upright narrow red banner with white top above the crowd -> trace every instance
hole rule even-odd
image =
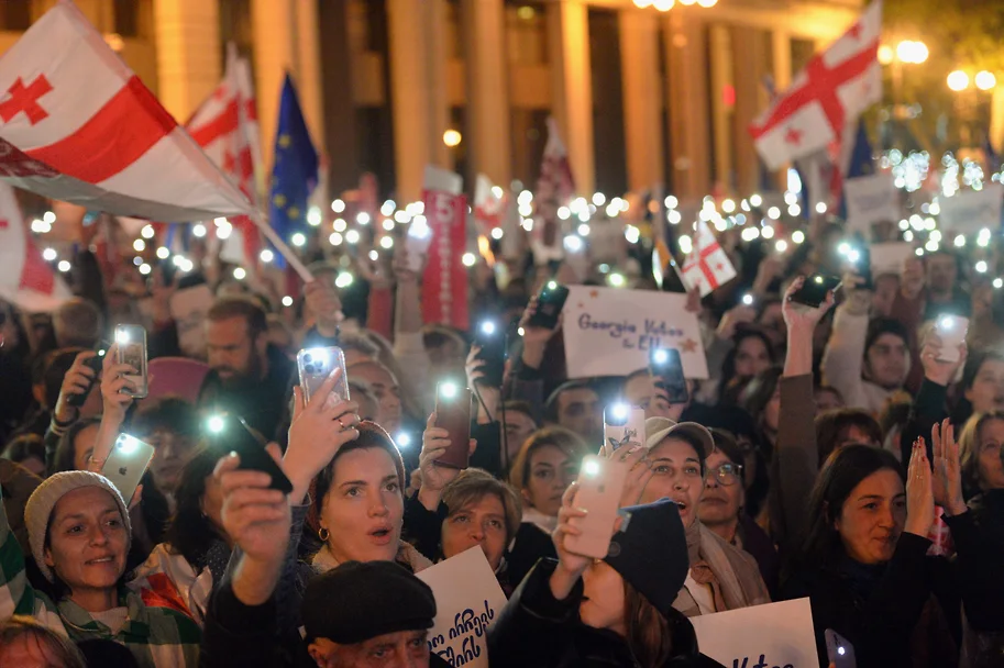
[[[432,243],[422,278],[422,318],[466,330],[467,269],[462,258],[467,242],[467,198],[462,189],[459,175],[426,167],[422,202]]]

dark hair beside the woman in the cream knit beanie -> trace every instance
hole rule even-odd
[[[212,475],[219,459],[220,453],[206,445],[195,452],[181,471],[176,493],[177,508],[164,532],[164,542],[170,546],[170,552],[180,554],[197,567],[196,570],[203,566],[206,553],[213,542],[223,538],[209,517],[202,514],[206,478]]]

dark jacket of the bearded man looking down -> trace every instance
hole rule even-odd
[[[296,365],[268,345],[268,372],[261,381],[247,381],[238,387],[223,387],[216,371],[206,375],[199,390],[199,407],[209,411],[227,411],[244,421],[272,441],[280,432],[289,413],[288,399],[296,380]]]

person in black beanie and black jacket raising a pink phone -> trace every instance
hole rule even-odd
[[[687,575],[686,535],[675,503],[622,509],[605,559],[570,553],[577,487],[562,499],[554,547],[541,559],[488,630],[493,666],[571,668],[713,667],[699,654],[694,627],[673,608]]]

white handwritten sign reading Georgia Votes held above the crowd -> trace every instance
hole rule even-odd
[[[708,377],[686,294],[571,286],[562,331],[569,378],[626,376],[648,366],[654,348],[680,350],[687,378]]]

